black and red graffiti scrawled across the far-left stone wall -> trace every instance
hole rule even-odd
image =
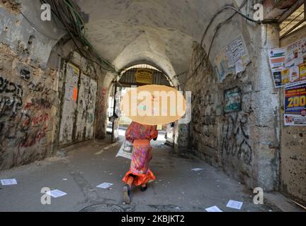
[[[0,75],[0,169],[41,160],[51,148],[53,78],[40,69],[23,70]]]

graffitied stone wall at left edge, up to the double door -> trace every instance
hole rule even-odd
[[[0,4],[0,169],[53,154],[57,71],[47,68],[55,40],[31,27],[21,5]]]

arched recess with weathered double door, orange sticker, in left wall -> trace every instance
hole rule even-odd
[[[98,66],[71,52],[62,66],[60,145],[94,138],[96,120]]]

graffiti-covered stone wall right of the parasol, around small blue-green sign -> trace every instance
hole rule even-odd
[[[196,47],[193,56],[196,64],[191,71],[203,54],[203,49]],[[186,87],[193,92],[190,135],[193,152],[212,165],[223,167],[233,177],[251,184],[254,160],[251,126],[255,124],[251,105],[252,83],[244,73],[237,78],[229,76],[224,83],[218,84],[210,64],[203,64],[198,71],[191,82],[198,85]],[[241,91],[242,110],[225,114],[225,90],[234,88]]]

